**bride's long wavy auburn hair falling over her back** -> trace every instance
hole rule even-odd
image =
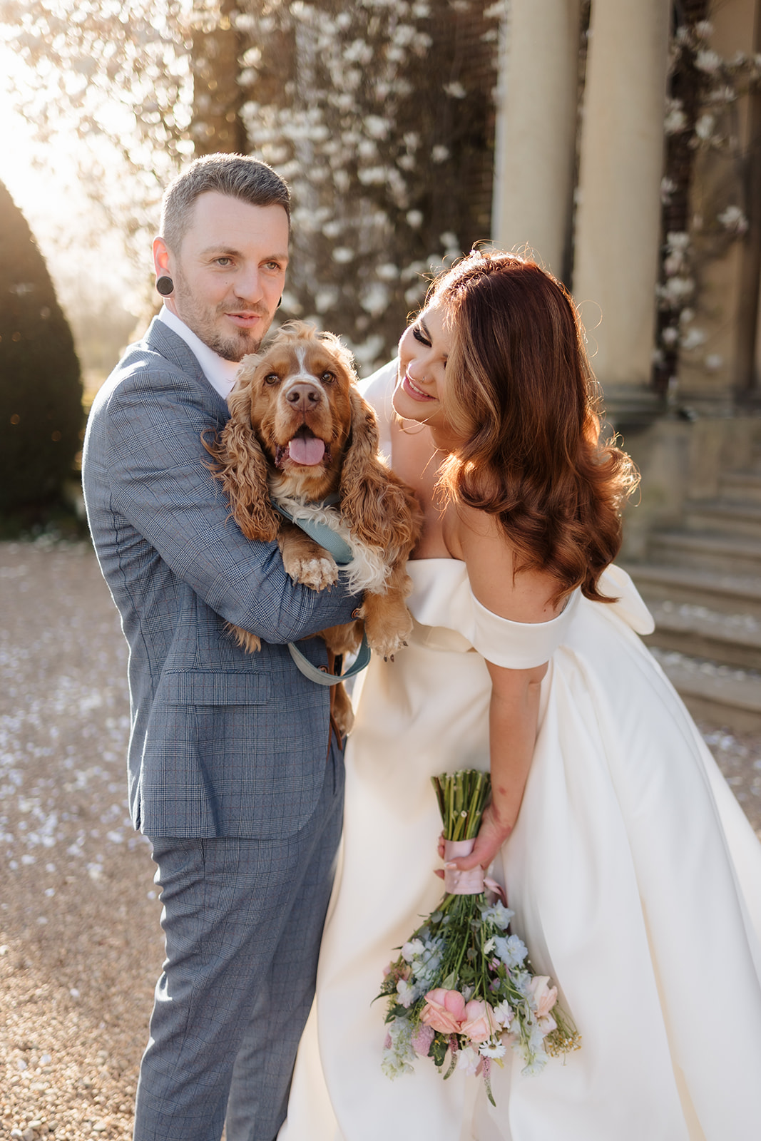
[[[534,261],[473,251],[434,282],[452,330],[443,408],[459,439],[440,486],[499,517],[513,573],[543,569],[556,601],[598,580],[621,547],[639,476],[600,443],[599,388],[568,291]]]

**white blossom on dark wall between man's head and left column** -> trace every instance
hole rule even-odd
[[[272,0],[235,18],[249,148],[294,194],[283,311],[342,333],[365,369],[430,273],[488,240],[502,7]]]

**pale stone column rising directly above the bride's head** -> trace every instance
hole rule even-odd
[[[580,0],[512,0],[497,89],[494,241],[528,243],[558,275],[572,217],[578,22]]]

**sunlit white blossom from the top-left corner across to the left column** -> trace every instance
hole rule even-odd
[[[503,7],[0,0],[0,30],[29,65],[19,110],[39,137],[66,121],[111,145],[118,177],[90,184],[136,259],[192,155],[248,152],[281,171],[296,204],[281,314],[342,333],[369,367],[392,354],[426,275],[489,236]]]

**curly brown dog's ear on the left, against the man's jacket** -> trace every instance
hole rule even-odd
[[[246,539],[268,543],[277,537],[281,517],[269,499],[267,460],[251,427],[251,379],[238,380],[227,399],[230,418],[217,440],[205,446],[238,527]]]

